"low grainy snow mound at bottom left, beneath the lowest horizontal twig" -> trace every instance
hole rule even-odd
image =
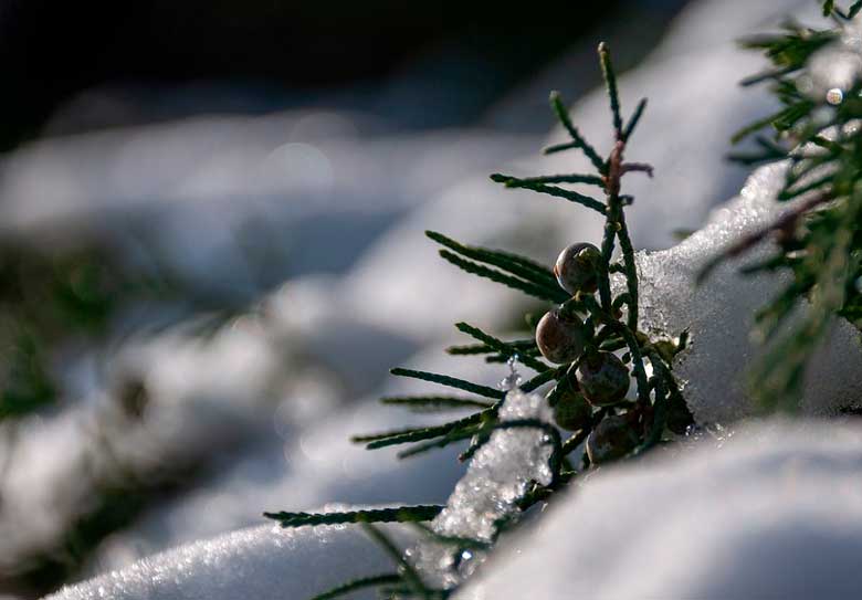
[[[387,527],[387,533],[400,528]],[[400,535],[403,541],[403,533]],[[282,600],[311,598],[351,579],[395,572],[391,558],[349,525],[262,526],[144,559],[54,600]]]

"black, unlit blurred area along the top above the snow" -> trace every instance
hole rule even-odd
[[[0,147],[40,133],[201,112],[254,114],[324,102],[387,113],[392,107],[374,91],[406,74],[431,93],[409,97],[413,110],[401,110],[400,125],[463,125],[585,33],[621,23],[630,36],[642,35],[684,3],[8,0],[0,4]],[[231,82],[230,92],[213,82]],[[196,99],[166,101],[190,84]],[[122,107],[91,107],[44,130],[59,105],[105,85],[122,91]],[[445,97],[449,103],[440,102]]]

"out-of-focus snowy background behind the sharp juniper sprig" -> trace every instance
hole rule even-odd
[[[421,389],[391,366],[502,378],[438,350],[528,306],[422,230],[546,263],[596,233],[486,175],[578,170],[538,158],[550,88],[608,146],[606,40],[655,107],[635,242],[670,245],[745,177],[722,156],[766,101],[733,40],[797,3],[0,3],[0,597],[263,510],[443,501],[452,453],[347,436],[417,422],[374,403]]]

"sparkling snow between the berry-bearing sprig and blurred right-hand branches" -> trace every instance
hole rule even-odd
[[[775,199],[784,183],[785,168],[778,164],[755,171],[739,197],[717,209],[703,229],[679,245],[637,254],[640,327],[656,334],[691,333],[691,347],[677,357],[674,368],[686,382],[685,398],[700,423],[727,423],[755,412],[744,393],[746,369],[764,351],[750,339],[754,314],[786,280],[775,274],[739,274],[740,266],[765,255],[768,242],[756,252],[718,266],[702,285],[697,286],[695,278],[727,245],[792,207]],[[617,284],[622,282],[618,280]],[[859,407],[860,364],[859,331],[837,319],[809,368],[803,411],[834,414],[842,408]]]

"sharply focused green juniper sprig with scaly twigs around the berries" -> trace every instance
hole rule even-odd
[[[547,486],[534,485],[519,499],[518,506],[524,510],[537,502],[548,501],[558,490],[577,477],[579,471],[572,465],[568,455],[579,449],[582,452],[579,464],[582,465],[582,469],[589,469],[592,464],[641,454],[665,441],[670,431],[679,432],[680,427],[687,427],[692,422],[691,413],[682,399],[680,386],[671,372],[671,361],[685,346],[686,336],[682,335],[679,340],[670,338],[652,340],[638,328],[638,274],[634,250],[624,217],[626,207],[630,206],[633,199],[622,193],[621,189],[622,179],[628,173],[645,172],[652,176],[652,167],[649,165],[628,162],[623,158],[627,143],[644,114],[646,101],[640,101],[628,120],[623,119],[610,53],[605,44],[599,46],[598,52],[608,91],[612,122],[613,145],[608,157],[602,158],[598,150],[581,136],[556,92],[550,95],[550,106],[568,133],[570,141],[546,149],[546,152],[567,149],[580,150],[588,158],[596,172],[528,178],[516,178],[502,173],[491,176],[493,181],[503,183],[507,188],[530,189],[539,193],[564,198],[577,206],[596,211],[605,218],[601,250],[591,244],[582,243],[570,246],[575,249],[576,253],[582,249],[588,251],[584,256],[576,256],[575,261],[577,269],[581,270],[576,277],[579,282],[577,285],[582,287],[572,291],[569,281],[559,271],[561,269],[560,261],[569,249],[564,251],[555,269],[550,270],[525,256],[467,245],[442,233],[427,232],[431,240],[443,246],[440,250],[440,255],[466,273],[518,290],[551,305],[548,314],[538,322],[532,316],[527,316],[527,323],[534,329],[534,337],[530,339],[505,341],[474,325],[458,323],[456,328],[472,337],[476,344],[454,346],[448,348],[446,351],[455,356],[485,357],[488,361],[509,361],[511,364],[518,361],[537,371],[537,375],[521,383],[518,388],[522,392],[530,393],[550,385],[551,389],[546,399],[555,411],[555,423],[539,419],[501,420],[498,411],[505,401],[505,391],[441,373],[397,368],[392,369],[392,375],[439,383],[470,392],[481,399],[416,396],[385,398],[382,399],[383,403],[401,404],[419,410],[448,408],[476,408],[479,410],[442,424],[353,438],[355,442],[365,443],[369,450],[403,445],[406,449],[399,453],[399,457],[414,456],[430,450],[470,440],[466,450],[460,456],[461,460],[465,461],[470,460],[487,443],[495,432],[514,429],[542,431],[543,439],[551,446],[548,464],[551,481]],[[592,186],[601,190],[605,198],[598,200],[560,187],[567,185]],[[621,254],[619,262],[614,261],[617,248]],[[564,261],[563,269],[565,267]],[[611,286],[611,275],[620,276],[623,280],[624,290],[614,294]],[[593,297],[596,292],[598,292],[598,298]],[[561,348],[566,352],[564,355],[547,348],[545,344],[547,340],[542,337],[539,331],[543,323],[548,323],[549,318],[551,323],[559,323],[563,327],[576,327],[577,329],[575,334],[568,334],[571,336],[570,338],[567,338],[566,335],[558,338],[551,336],[550,339],[568,339],[567,344],[570,344],[571,347]],[[545,341],[540,343],[540,339]],[[580,347],[581,345],[582,347]],[[575,354],[571,354],[572,349]],[[620,359],[612,352],[624,354]],[[555,365],[548,365],[539,358],[539,355]],[[564,358],[560,359],[560,356]],[[617,369],[618,380],[621,370],[624,383],[621,393],[612,398],[602,398],[580,388],[581,383],[588,385],[588,380],[584,379],[585,376],[581,371],[603,368],[601,365],[606,362]],[[648,371],[648,366],[651,367],[651,372]],[[637,385],[637,400],[634,401],[624,398],[631,379],[634,379]],[[593,393],[591,402],[595,402],[596,406],[586,403],[584,394],[587,393]],[[570,408],[572,402],[576,404],[584,402],[584,404],[578,404],[580,407],[579,413],[567,417],[564,409]],[[564,427],[574,431],[574,434],[565,441],[560,432],[560,428]],[[626,442],[628,445],[611,448],[610,451],[601,450],[603,454],[591,454],[591,452],[599,451],[596,450],[597,444],[590,444],[590,440],[608,428],[619,430],[618,433],[628,440]],[[586,451],[582,450],[585,443]],[[393,508],[358,514],[278,513],[270,516],[283,524],[286,523],[287,526],[307,523],[361,523],[367,520],[412,522],[425,520],[427,517],[435,515],[439,509],[440,507],[403,507],[403,512]],[[495,531],[500,533],[515,520],[516,516],[504,517],[495,524]],[[374,534],[371,535],[374,536]],[[392,554],[399,564],[402,580],[398,583],[388,583],[397,587],[399,597],[439,598],[452,591],[424,588],[418,575],[410,570],[409,564],[403,560],[403,557],[393,554],[395,549],[391,543],[386,539],[378,539],[378,541]],[[459,549],[473,547],[470,540],[458,538],[448,539],[446,544]]]

